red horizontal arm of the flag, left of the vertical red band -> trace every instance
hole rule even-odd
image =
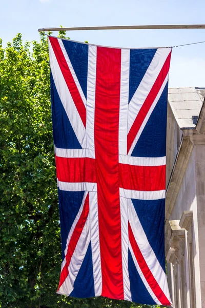
[[[61,182],[96,183],[95,160],[92,158],[55,157],[56,174]]]

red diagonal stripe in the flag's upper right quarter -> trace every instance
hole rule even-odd
[[[148,97],[146,98],[144,104],[141,106],[137,117],[132,125],[132,127],[130,128],[130,131],[128,133],[128,150],[127,152],[129,152],[131,145],[136,137],[137,132],[139,131],[139,128],[141,127],[142,123],[145,120],[145,117],[150,109],[150,107],[152,106],[163,82],[165,81],[165,78],[169,72],[169,68],[170,68],[170,60],[171,60],[171,52],[169,53],[165,64],[163,65],[163,67],[161,68],[160,73],[157,76],[157,79],[152,87],[152,89],[150,90],[150,93],[148,94]]]

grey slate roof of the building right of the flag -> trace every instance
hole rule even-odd
[[[168,101],[179,128],[194,128],[192,116],[198,116],[205,96],[205,88],[170,88]]]

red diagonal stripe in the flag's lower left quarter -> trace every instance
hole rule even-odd
[[[66,264],[65,264],[64,268],[62,269],[62,271],[60,273],[60,281],[59,281],[59,285],[58,285],[58,290],[61,287],[61,285],[64,283],[64,281],[66,280],[66,278],[69,274],[68,266],[70,264],[72,255],[75,251],[75,247],[77,245],[77,242],[78,242],[80,235],[83,231],[83,228],[85,226],[86,220],[88,218],[88,214],[89,214],[89,194],[86,197],[83,211],[82,211],[80,218],[79,218],[79,220],[78,220],[78,222],[75,226],[75,229],[73,231],[73,234],[71,236],[71,239],[70,239],[70,242],[69,242],[69,245],[68,245],[68,251],[67,251],[67,254],[65,256]]]

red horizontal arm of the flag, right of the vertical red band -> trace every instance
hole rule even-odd
[[[119,187],[132,190],[165,189],[166,165],[133,166],[119,164]]]

